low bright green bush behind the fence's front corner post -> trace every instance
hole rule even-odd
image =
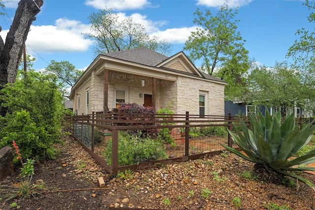
[[[150,136],[140,136],[119,134],[118,165],[133,165],[167,158],[165,149],[160,142],[155,141]],[[107,164],[111,164],[112,139],[107,141],[104,156],[107,158]]]

